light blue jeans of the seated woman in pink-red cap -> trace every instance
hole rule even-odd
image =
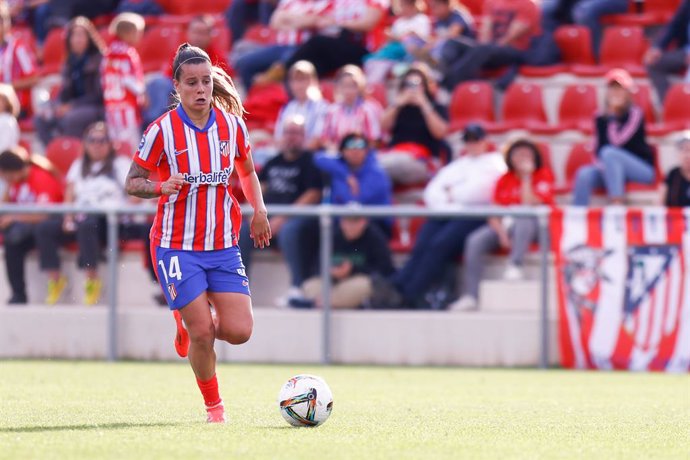
[[[639,157],[619,147],[607,145],[599,152],[596,164],[583,166],[575,176],[574,201],[577,206],[587,206],[592,192],[606,188],[609,198],[622,198],[626,182],[651,184],[654,167]]]

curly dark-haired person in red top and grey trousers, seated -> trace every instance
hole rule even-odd
[[[553,204],[553,175],[544,167],[539,148],[527,139],[511,142],[506,151],[506,172],[496,184],[493,201],[502,206],[534,206]],[[467,237],[463,292],[449,310],[464,311],[477,308],[479,283],[484,258],[491,251],[510,250],[508,266],[503,277],[509,281],[524,278],[522,262],[538,236],[539,223],[534,217],[492,217],[488,223]]]

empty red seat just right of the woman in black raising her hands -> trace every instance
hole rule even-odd
[[[450,131],[461,131],[470,122],[493,123],[493,87],[484,81],[461,83],[453,90],[449,107]]]

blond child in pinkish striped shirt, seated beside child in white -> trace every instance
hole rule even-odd
[[[381,139],[381,105],[367,98],[367,82],[362,69],[348,64],[335,77],[335,103],[324,122],[322,145],[335,150],[343,137],[360,133],[366,139]]]

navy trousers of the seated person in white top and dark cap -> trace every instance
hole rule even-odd
[[[429,219],[422,225],[412,255],[391,281],[407,302],[420,299],[465,249],[465,239],[484,219]]]

